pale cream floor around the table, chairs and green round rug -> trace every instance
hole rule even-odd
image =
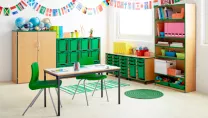
[[[100,98],[100,91],[97,91],[94,97],[88,93],[90,106],[86,105],[84,94],[78,94],[72,100],[71,95],[61,92],[63,108],[60,118],[208,118],[207,95],[196,92],[181,93],[154,84],[144,85],[123,79],[122,82],[130,83],[131,86],[121,88],[121,105],[117,104],[116,88],[108,89],[110,102],[107,102],[106,96]],[[77,81],[68,79],[64,80],[63,84],[77,84]],[[144,88],[159,90],[164,96],[159,99],[140,100],[124,95],[127,90]],[[21,118],[23,111],[37,92],[29,90],[28,84],[0,83],[0,118]],[[54,89],[52,94],[57,104]],[[49,95],[47,105],[47,108],[43,107],[42,93],[24,117],[56,117]]]

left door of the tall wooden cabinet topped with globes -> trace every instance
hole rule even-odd
[[[30,81],[33,62],[37,62],[37,32],[18,32],[18,83]]]

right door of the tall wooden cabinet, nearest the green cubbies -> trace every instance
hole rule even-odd
[[[56,32],[38,32],[39,79],[44,80],[43,70],[56,68]],[[55,77],[47,75],[47,80]]]

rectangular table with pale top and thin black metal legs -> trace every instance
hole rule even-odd
[[[121,103],[120,100],[120,67],[110,66],[110,65],[87,65],[81,67],[79,71],[74,71],[73,67],[65,67],[65,68],[51,68],[44,69],[44,80],[46,81],[46,74],[52,75],[56,77],[58,85],[60,85],[60,79],[76,77],[83,74],[91,74],[91,73],[103,73],[103,72],[118,72],[118,104]],[[101,80],[101,97],[103,97],[103,80]],[[46,89],[44,89],[44,106],[46,107]],[[60,116],[60,86],[58,86],[58,114]]]

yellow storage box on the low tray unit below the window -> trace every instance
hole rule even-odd
[[[115,53],[115,54],[132,54],[132,46],[127,42],[114,42],[113,53]]]

